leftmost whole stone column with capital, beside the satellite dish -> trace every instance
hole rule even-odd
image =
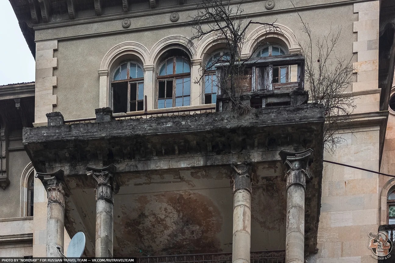
[[[58,247],[63,253],[64,244],[64,205],[66,201],[66,185],[64,171],[54,173],[36,173],[36,178],[47,190],[47,257],[61,257]]]

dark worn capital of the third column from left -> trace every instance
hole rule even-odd
[[[235,162],[232,164],[232,168],[234,172],[230,183],[233,193],[240,189],[251,192],[251,165],[246,162]]]

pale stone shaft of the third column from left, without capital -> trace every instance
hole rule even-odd
[[[233,263],[250,263],[251,193],[245,189],[233,194]]]

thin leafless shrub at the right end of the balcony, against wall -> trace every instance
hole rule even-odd
[[[350,127],[350,114],[356,107],[353,94],[346,92],[353,82],[352,57],[336,54],[341,28],[314,38],[308,24],[299,17],[308,37],[305,43],[299,43],[305,56],[305,87],[313,103],[325,106],[325,150],[334,153],[337,145],[344,141],[338,131]]]

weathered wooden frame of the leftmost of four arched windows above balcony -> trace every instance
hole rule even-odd
[[[115,72],[117,71],[117,69],[119,68],[119,67],[121,67],[122,65],[124,65],[125,63],[127,63],[127,66],[126,66],[126,76],[127,76],[127,78],[126,79],[123,79],[123,80],[113,80],[114,79],[114,75],[115,75]],[[143,71],[143,77],[141,77],[141,78],[130,78],[130,63],[133,63],[133,64],[136,64],[137,66],[139,66],[140,68],[141,68],[141,70]],[[125,83],[125,82],[127,82],[127,91],[128,91],[128,98],[127,98],[127,101],[128,101],[128,103],[127,103],[127,105],[126,105],[126,112],[131,112],[130,111],[130,103],[132,103],[132,101],[131,101],[131,96],[130,96],[130,90],[131,90],[131,84],[136,84],[137,85],[137,88],[136,88],[136,101],[134,101],[135,103],[136,103],[136,110],[135,111],[138,111],[137,110],[137,104],[139,103],[139,102],[142,102],[143,103],[143,110],[144,110],[144,67],[143,67],[143,65],[141,65],[140,63],[138,63],[138,62],[136,62],[136,61],[134,61],[134,60],[130,60],[130,61],[126,61],[126,62],[122,62],[122,63],[120,63],[119,64],[119,66],[118,67],[116,67],[115,69],[114,69],[114,71],[113,71],[113,74],[111,75],[111,108],[114,108],[114,96],[113,96],[113,94],[114,94],[114,90],[113,90],[113,84],[118,84],[118,83]],[[139,84],[143,84],[143,99],[138,99],[139,98]],[[133,111],[133,112],[135,112],[135,111]],[[126,113],[125,112],[125,113]]]

